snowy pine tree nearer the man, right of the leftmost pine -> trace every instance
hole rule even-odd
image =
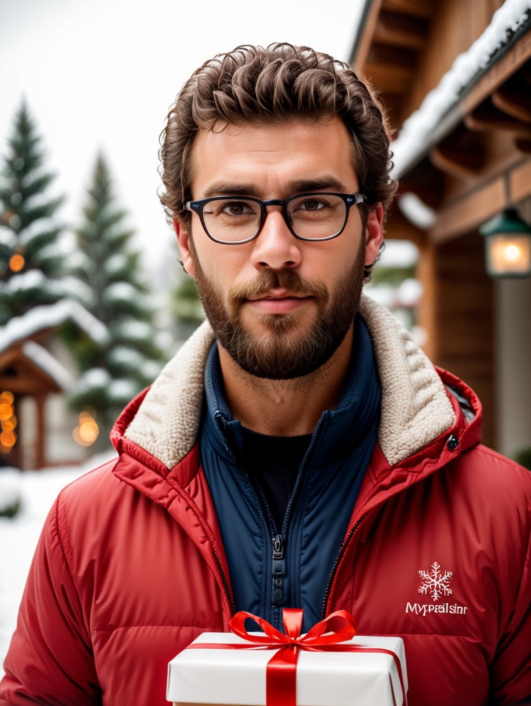
[[[109,330],[106,345],[87,337],[73,341],[83,373],[70,397],[75,409],[92,407],[106,442],[117,414],[161,369],[149,288],[126,227],[126,212],[116,205],[106,160],[98,155],[87,190],[83,220],[76,230],[75,274],[90,289],[83,304]]]

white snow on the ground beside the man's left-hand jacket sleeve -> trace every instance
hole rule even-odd
[[[16,496],[22,501],[16,517],[0,517],[0,677],[33,552],[52,503],[61,488],[113,455],[93,457],[75,467],[25,472],[0,469],[2,504]]]

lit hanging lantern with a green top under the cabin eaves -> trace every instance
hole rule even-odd
[[[491,277],[529,277],[531,227],[508,208],[480,227],[485,239],[485,263]]]

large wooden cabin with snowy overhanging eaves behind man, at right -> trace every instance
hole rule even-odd
[[[527,12],[526,12],[527,6]],[[531,446],[531,277],[487,273],[480,227],[531,223],[531,12],[514,0],[369,0],[350,61],[379,92],[414,241],[425,350],[475,389],[484,443]]]

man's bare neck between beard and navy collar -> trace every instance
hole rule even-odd
[[[271,436],[312,433],[324,409],[334,409],[350,364],[353,327],[336,352],[309,375],[290,380],[257,378],[244,371],[219,345],[225,399],[235,419]]]

